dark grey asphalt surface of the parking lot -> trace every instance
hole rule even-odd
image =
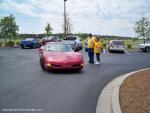
[[[88,64],[87,55],[83,53],[83,56],[82,72],[44,72],[39,65],[38,50],[0,48],[0,113],[6,112],[5,109],[95,113],[99,94],[110,80],[150,67],[150,53],[106,52],[99,66]]]

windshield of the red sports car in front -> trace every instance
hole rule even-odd
[[[56,51],[56,52],[71,52],[72,47],[71,45],[67,44],[47,44],[45,46],[46,51]]]

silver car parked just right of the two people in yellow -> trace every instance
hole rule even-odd
[[[108,45],[108,50],[109,50],[109,52],[113,52],[113,51],[124,52],[125,44],[124,44],[123,40],[111,40]]]

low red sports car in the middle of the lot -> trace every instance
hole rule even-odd
[[[62,42],[49,42],[39,49],[39,53],[43,70],[81,70],[84,66],[82,54]]]

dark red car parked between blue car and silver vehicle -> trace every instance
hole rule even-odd
[[[61,40],[60,40],[60,37],[58,37],[58,36],[44,37],[43,39],[41,39],[40,45],[44,46],[48,42],[59,42],[59,41],[61,41]]]

